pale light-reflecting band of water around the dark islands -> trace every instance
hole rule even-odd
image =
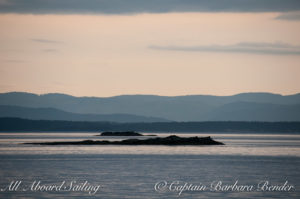
[[[177,134],[212,136],[224,146],[39,146],[26,142],[121,140],[129,137],[100,137],[97,133],[0,133],[0,154],[184,154],[300,156],[300,135],[271,134]],[[146,133],[147,135],[147,133]],[[158,136],[171,134],[160,133]],[[132,137],[131,137],[132,138]],[[145,137],[133,137],[147,139]]]

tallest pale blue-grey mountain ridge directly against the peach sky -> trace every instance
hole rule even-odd
[[[130,114],[172,121],[300,121],[300,94],[74,97],[11,92],[0,94],[0,105],[50,107],[78,114]]]

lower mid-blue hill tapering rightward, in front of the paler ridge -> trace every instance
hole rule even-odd
[[[167,122],[169,120],[143,117],[129,114],[78,114],[55,108],[26,108],[20,106],[0,105],[0,117],[18,117],[33,120],[67,120],[67,121],[110,121],[110,122]]]

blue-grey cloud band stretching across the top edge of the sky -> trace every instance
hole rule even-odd
[[[167,12],[288,12],[299,0],[1,0],[2,13],[135,14]]]

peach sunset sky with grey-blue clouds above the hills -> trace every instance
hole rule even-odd
[[[0,0],[0,92],[300,93],[299,0]]]

